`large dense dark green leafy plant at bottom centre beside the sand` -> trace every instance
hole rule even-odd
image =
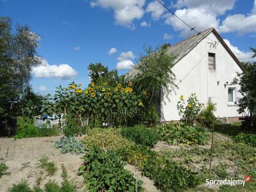
[[[79,175],[83,175],[88,191],[141,191],[141,181],[136,186],[136,179],[124,170],[124,164],[116,152],[93,148],[84,155]]]

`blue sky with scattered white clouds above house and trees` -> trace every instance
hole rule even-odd
[[[249,47],[256,47],[256,0],[163,3],[197,31],[213,26],[237,58],[251,60]],[[143,44],[175,44],[193,35],[152,0],[0,0],[0,16],[11,17],[13,26],[28,24],[40,35],[42,66],[33,70],[31,84],[43,95],[73,80],[85,87],[90,63],[101,62],[110,70],[118,67],[118,73],[124,74],[143,53]]]

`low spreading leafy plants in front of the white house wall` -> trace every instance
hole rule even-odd
[[[183,123],[159,125],[156,127],[161,140],[172,145],[185,143],[187,145],[204,145],[208,141],[204,128],[189,126]]]

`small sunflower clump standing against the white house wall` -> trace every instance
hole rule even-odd
[[[198,120],[200,111],[202,109],[202,104],[198,102],[195,93],[192,93],[187,104],[185,103],[183,95],[180,95],[180,100],[178,102],[179,115],[182,116],[182,121],[186,124],[193,125],[195,120]]]

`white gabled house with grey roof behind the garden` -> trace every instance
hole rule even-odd
[[[166,96],[161,99],[161,122],[180,120],[179,97],[186,100],[191,93],[196,93],[199,102],[215,103],[217,117],[236,120],[241,116],[236,103],[239,86],[231,82],[243,66],[214,28],[170,46],[168,52],[176,56],[172,71],[179,88],[169,95],[170,101]],[[127,75],[134,74],[138,74],[136,68]]]

